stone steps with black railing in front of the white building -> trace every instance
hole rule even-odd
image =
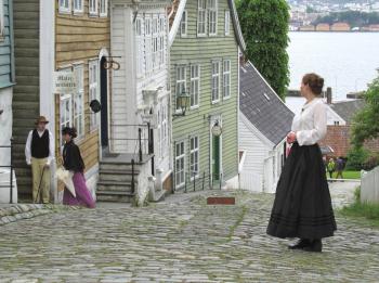
[[[147,185],[152,156],[143,156],[142,162],[134,163],[134,192],[132,189],[132,157],[120,154],[105,157],[100,162],[97,202],[130,203],[139,185]],[[164,195],[154,192],[153,202],[160,201]]]

